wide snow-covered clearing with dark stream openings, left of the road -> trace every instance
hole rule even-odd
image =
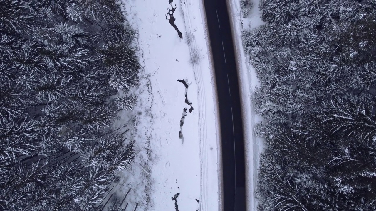
[[[220,131],[202,3],[122,1],[143,68],[135,112],[115,127],[130,119],[126,136],[138,153],[110,194],[121,201],[130,189],[127,210],[220,210]]]

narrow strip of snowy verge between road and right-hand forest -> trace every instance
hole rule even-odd
[[[259,168],[259,156],[262,152],[263,142],[253,133],[253,127],[261,122],[262,118],[255,115],[253,110],[252,94],[256,86],[259,87],[259,81],[255,69],[249,61],[249,55],[246,55],[241,42],[241,32],[246,29],[254,29],[261,26],[261,12],[258,5],[259,0],[254,0],[254,5],[246,18],[241,15],[240,0],[227,0],[230,10],[230,19],[233,30],[233,39],[235,45],[235,55],[239,71],[239,83],[241,90],[243,124],[244,124],[244,148],[246,151],[246,183],[247,183],[247,210],[256,211],[257,201],[254,197],[256,188],[257,170]]]

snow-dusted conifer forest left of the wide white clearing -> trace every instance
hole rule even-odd
[[[0,210],[94,210],[132,163],[124,22],[115,0],[0,0]]]

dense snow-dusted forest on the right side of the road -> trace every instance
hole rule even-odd
[[[259,8],[266,24],[242,35],[265,120],[258,210],[376,210],[376,1]]]

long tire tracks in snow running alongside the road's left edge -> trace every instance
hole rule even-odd
[[[191,17],[189,12],[189,7],[192,6],[191,3],[186,3],[185,0],[180,2],[183,12],[183,21],[185,25],[185,30],[187,33],[194,35],[195,30],[193,30],[191,24]],[[193,36],[192,42],[189,44],[190,54],[194,49],[198,49],[196,39]],[[208,140],[207,140],[207,131],[206,131],[206,107],[205,107],[205,90],[203,89],[203,80],[202,80],[202,69],[198,64],[193,64],[193,73],[194,78],[197,84],[197,97],[198,97],[198,113],[199,113],[199,140],[200,140],[200,191],[201,196],[199,200],[199,210],[206,211],[208,210]]]

